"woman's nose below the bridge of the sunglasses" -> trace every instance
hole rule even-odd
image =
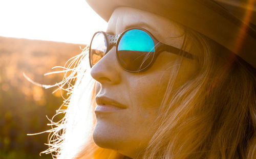
[[[101,84],[115,85],[121,82],[122,68],[116,59],[115,48],[112,47],[91,69],[91,76]]]

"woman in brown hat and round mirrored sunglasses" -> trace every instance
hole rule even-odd
[[[95,33],[67,70],[61,87],[69,84],[68,108],[59,111],[65,117],[55,123],[46,152],[256,158],[250,19],[238,20],[209,0],[88,3],[108,28]]]

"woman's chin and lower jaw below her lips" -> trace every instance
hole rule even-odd
[[[145,135],[144,135],[145,136]],[[97,120],[93,131],[94,143],[106,149],[115,150],[125,156],[133,156],[143,150],[148,144],[149,138],[144,139],[143,135],[133,134],[131,128],[117,126],[113,123]]]

